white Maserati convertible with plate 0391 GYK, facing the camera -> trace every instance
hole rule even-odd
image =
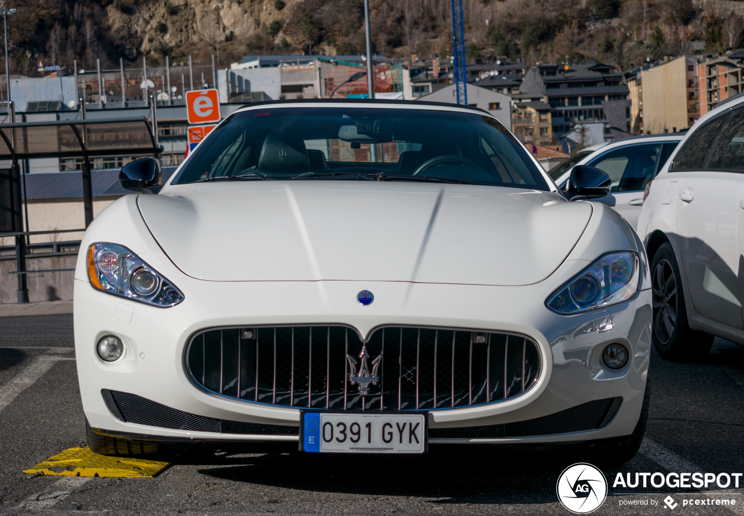
[[[77,371],[98,453],[289,441],[635,455],[649,399],[641,241],[577,166],[568,200],[489,113],[277,101],[159,165],[80,246]],[[432,450],[434,447],[432,447]]]

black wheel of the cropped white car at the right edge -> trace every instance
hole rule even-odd
[[[652,340],[664,360],[698,360],[711,351],[713,335],[695,331],[687,323],[687,308],[679,265],[669,242],[656,251],[651,263],[653,299]]]

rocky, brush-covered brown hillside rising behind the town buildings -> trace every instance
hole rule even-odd
[[[90,69],[157,65],[190,54],[219,66],[245,54],[360,54],[362,0],[23,0],[9,7],[11,70],[72,61]],[[452,53],[449,0],[370,0],[375,51]],[[592,57],[625,69],[647,57],[742,45],[744,2],[731,0],[464,0],[467,56],[527,63]],[[691,44],[691,42],[695,42]]]

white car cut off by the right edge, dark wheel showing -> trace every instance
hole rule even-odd
[[[647,188],[638,223],[652,260],[654,344],[670,360],[744,345],[744,97],[696,122]]]

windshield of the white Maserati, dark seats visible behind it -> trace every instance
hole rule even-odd
[[[231,115],[174,184],[217,180],[462,182],[547,191],[501,123],[427,109],[269,106]]]

